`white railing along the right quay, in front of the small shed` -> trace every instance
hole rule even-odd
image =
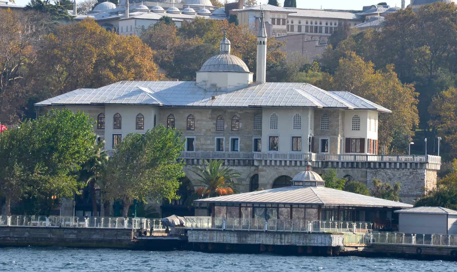
[[[373,232],[361,235],[347,233],[344,236],[346,244],[393,244],[393,245],[416,245],[416,246],[455,246],[457,247],[457,235],[448,234],[415,234],[401,232]]]

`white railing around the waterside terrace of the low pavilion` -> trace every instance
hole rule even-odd
[[[305,231],[367,233],[371,222],[289,220],[263,218],[219,218],[202,217],[197,220],[186,218],[188,229],[216,230],[261,230],[261,231]]]

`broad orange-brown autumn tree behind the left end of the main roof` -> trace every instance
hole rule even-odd
[[[93,19],[59,26],[43,38],[29,88],[55,96],[121,80],[159,80],[154,52],[138,37],[106,31]],[[43,69],[46,67],[46,69]]]

